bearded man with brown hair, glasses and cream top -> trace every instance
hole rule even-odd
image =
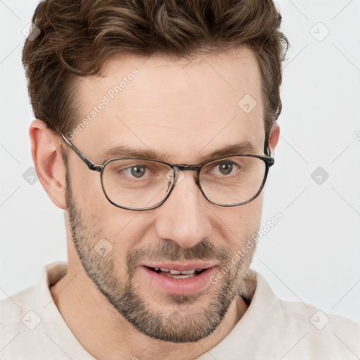
[[[356,323],[249,269],[288,45],[274,4],[46,0],[32,22],[32,157],[68,263],[1,302],[0,359],[359,357]]]

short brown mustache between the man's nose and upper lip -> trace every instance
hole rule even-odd
[[[215,246],[208,239],[203,239],[191,248],[181,248],[173,241],[158,243],[155,247],[136,249],[127,255],[127,268],[131,273],[132,269],[139,266],[143,260],[152,261],[179,261],[179,260],[213,260],[226,262],[231,258],[231,252],[223,246]]]

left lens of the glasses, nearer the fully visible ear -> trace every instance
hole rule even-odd
[[[103,169],[103,189],[117,205],[145,209],[164,200],[169,193],[172,176],[172,169],[161,162],[113,160]]]

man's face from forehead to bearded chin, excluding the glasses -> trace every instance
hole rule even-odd
[[[115,157],[105,155],[115,146],[152,150],[173,164],[200,164],[215,150],[245,142],[253,153],[263,153],[260,72],[250,51],[190,64],[161,56],[145,60],[116,56],[105,63],[105,77],[82,79],[82,115],[97,110],[72,143],[91,161]],[[128,76],[134,68],[137,75]],[[123,77],[122,90],[114,93]],[[238,105],[245,95],[257,102],[250,113]],[[101,102],[105,106],[98,106]],[[204,198],[195,172],[187,171],[160,207],[124,210],[105,198],[99,174],[74,152],[68,154],[70,229],[89,278],[142,333],[173,342],[210,335],[250,265],[255,247],[224,271],[259,229],[262,195],[245,205],[220,207]],[[161,268],[201,272],[179,275]],[[223,276],[210,281],[221,269]]]

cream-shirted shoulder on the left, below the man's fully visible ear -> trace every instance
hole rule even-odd
[[[65,358],[55,342],[71,342],[72,335],[53,302],[49,285],[66,269],[65,262],[48,264],[41,269],[37,285],[0,301],[1,359],[50,359],[56,352],[56,359]]]

